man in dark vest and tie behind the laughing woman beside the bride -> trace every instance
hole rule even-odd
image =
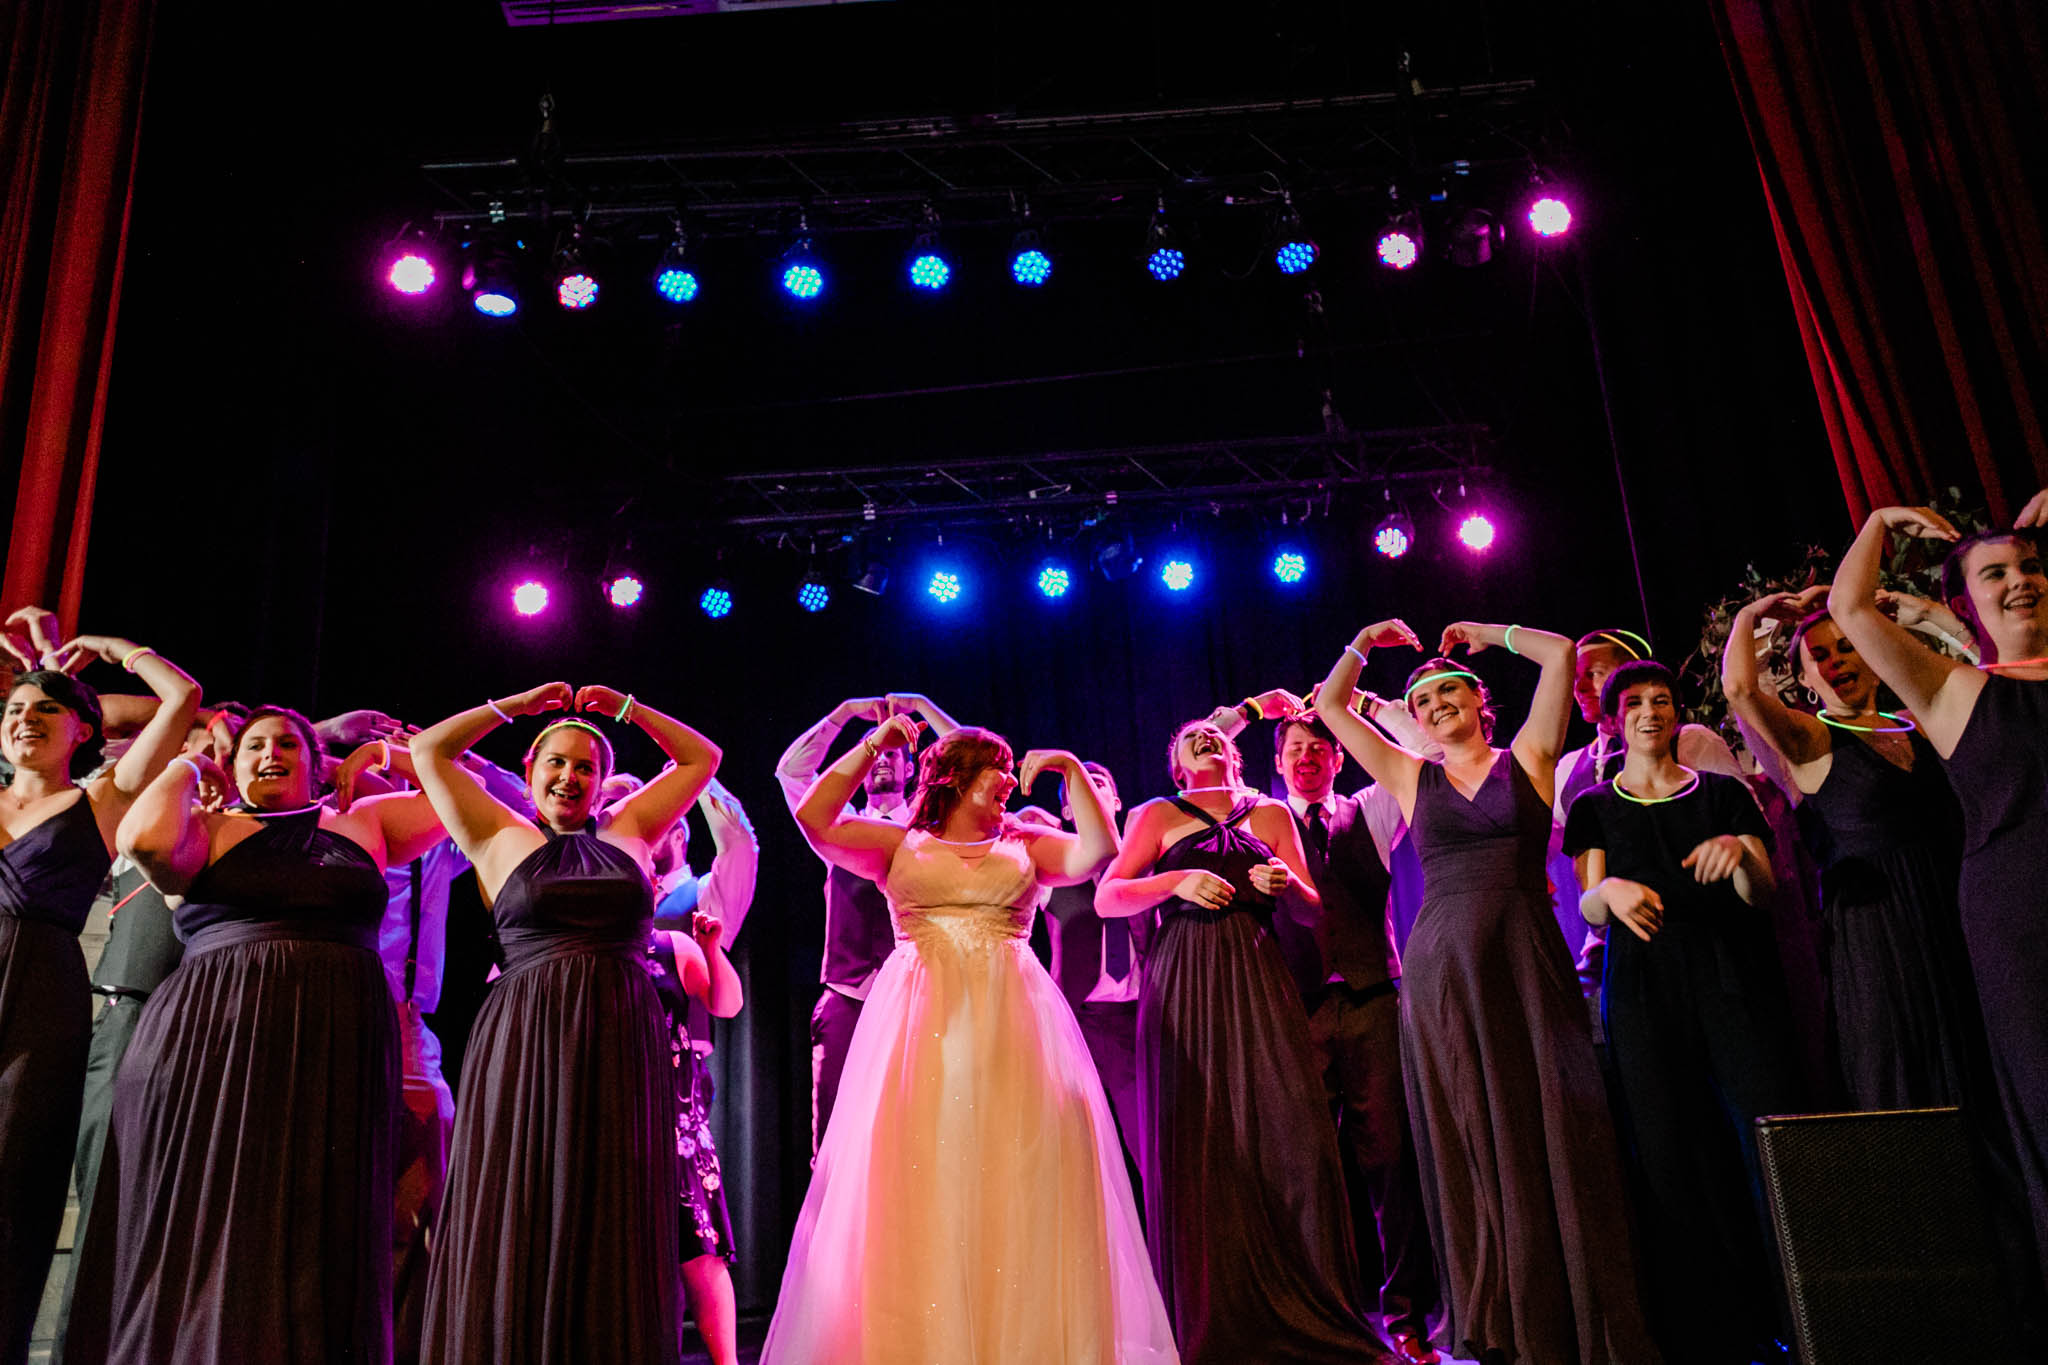
[[[1337,794],[1343,749],[1313,712],[1290,714],[1274,729],[1274,765],[1309,876],[1323,894],[1313,927],[1282,915],[1274,935],[1300,984],[1309,1033],[1323,1050],[1346,1164],[1372,1207],[1366,1224],[1354,1197],[1360,1246],[1380,1248],[1386,1336],[1399,1359],[1436,1361],[1430,1314],[1438,1283],[1401,1091],[1401,964],[1386,931],[1401,808],[1378,788]]]

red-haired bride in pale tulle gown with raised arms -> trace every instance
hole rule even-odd
[[[1014,774],[963,726],[924,755],[909,829],[846,802],[883,722],[797,810],[829,862],[889,894],[897,948],[860,1011],[782,1273],[762,1365],[1176,1363],[1124,1156],[1079,1025],[1030,952],[1040,886],[1116,853],[1071,753]],[[1077,833],[1004,812],[1022,778],[1067,778]]]

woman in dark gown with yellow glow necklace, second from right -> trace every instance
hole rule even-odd
[[[1829,1050],[1845,1097],[1855,1109],[1962,1105],[1989,1078],[1956,909],[1962,808],[1911,712],[1878,710],[1878,675],[1841,626],[1825,610],[1802,616],[1825,593],[1825,583],[1772,593],[1737,612],[1720,686],[1804,796],[1800,837],[1821,864]],[[1769,618],[1796,620],[1792,657],[1819,714],[1759,684],[1755,632]]]

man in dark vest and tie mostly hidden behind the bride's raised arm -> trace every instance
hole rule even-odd
[[[1116,821],[1124,808],[1116,794],[1116,778],[1102,763],[1081,763],[1087,780],[1102,792],[1102,804]],[[1073,806],[1067,786],[1059,788],[1059,814],[1073,827]],[[1096,1062],[1102,1089],[1110,1097],[1116,1132],[1124,1140],[1124,1164],[1130,1169],[1130,1191],[1139,1193],[1137,1164],[1137,1103],[1139,1103],[1139,945],[1130,919],[1096,915],[1096,882],[1055,886],[1047,896],[1044,923],[1053,935],[1053,982],[1073,1007],[1073,1017],[1087,1040],[1087,1056]],[[1139,1195],[1139,1207],[1145,1207]]]

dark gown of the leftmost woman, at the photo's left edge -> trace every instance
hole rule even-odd
[[[29,1359],[63,1224],[92,1038],[78,931],[111,862],[84,792],[0,847],[0,1365]]]

